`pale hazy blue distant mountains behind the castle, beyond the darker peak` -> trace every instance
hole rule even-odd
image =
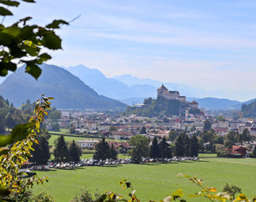
[[[143,103],[144,99],[148,97],[156,98],[157,88],[162,85],[160,81],[139,79],[131,74],[108,78],[98,69],[90,69],[83,65],[70,66],[66,69],[98,93],[118,99],[128,105]],[[218,90],[207,91],[172,82],[165,83],[165,86],[169,90],[178,90],[182,96],[187,96],[188,101],[195,100],[200,107],[208,110],[240,110],[242,104],[253,101],[241,102],[225,98],[212,98],[210,97],[212,94],[221,92]],[[209,97],[203,98],[203,96]]]

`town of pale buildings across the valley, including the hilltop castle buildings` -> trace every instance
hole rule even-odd
[[[185,96],[179,96],[177,91],[167,90],[164,85],[157,89],[157,96],[186,102]],[[246,131],[251,138],[231,142],[230,144],[231,146],[233,145],[233,149],[226,155],[248,157],[249,153],[253,151],[256,144],[255,141],[252,141],[256,136],[255,119],[224,117],[221,114],[216,116],[214,114],[207,114],[205,109],[200,109],[200,114],[189,114],[189,109],[198,109],[198,104],[196,101],[188,102],[188,104],[189,107],[186,108],[184,117],[177,115],[171,117],[165,117],[164,115],[140,117],[136,114],[125,116],[122,113],[94,112],[93,110],[61,110],[59,117],[48,118],[45,126],[53,134],[56,134],[54,131],[66,129],[73,136],[85,137],[83,140],[76,141],[83,149],[94,149],[99,139],[105,137],[115,142],[114,145],[117,150],[123,149],[126,152],[131,149],[129,139],[132,136],[140,134],[150,138],[151,141],[154,137],[159,141],[165,137],[167,143],[172,144],[180,133],[185,132],[190,137],[196,135],[202,140],[200,141],[200,152],[217,153],[218,144],[230,146],[228,145],[230,141],[225,142],[227,134],[241,134]],[[143,104],[135,107],[142,106]],[[211,138],[207,137],[208,133],[211,133]],[[241,150],[242,152],[239,152]]]

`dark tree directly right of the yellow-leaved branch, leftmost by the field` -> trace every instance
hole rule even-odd
[[[31,152],[32,157],[29,159],[37,165],[46,165],[50,159],[49,142],[45,136],[37,137],[38,144],[34,144],[34,151]]]

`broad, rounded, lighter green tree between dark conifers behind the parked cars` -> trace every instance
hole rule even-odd
[[[150,139],[142,135],[132,136],[129,140],[129,145],[133,146],[132,160],[134,160],[135,163],[140,163],[142,157],[146,157],[148,155],[149,142]]]

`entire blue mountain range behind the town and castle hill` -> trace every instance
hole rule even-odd
[[[38,82],[29,74],[24,73],[24,67],[10,74],[2,83],[1,77],[0,94],[10,99],[15,106],[25,102],[27,98],[34,101],[42,93],[48,93],[49,96],[56,95],[53,104],[58,108],[124,110],[126,104],[143,103],[148,97],[156,98],[157,88],[162,85],[160,81],[139,79],[130,74],[108,78],[98,69],[90,69],[83,65],[60,68],[43,64],[42,70],[43,73]],[[253,101],[240,102],[210,96],[202,98],[204,95],[215,94],[217,91],[208,92],[171,82],[164,84],[169,90],[178,90],[181,96],[187,96],[187,101],[195,100],[199,107],[208,110],[240,110],[242,104]]]

